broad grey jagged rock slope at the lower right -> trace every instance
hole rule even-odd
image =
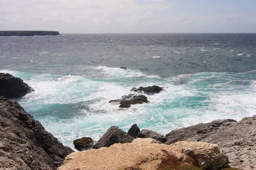
[[[166,135],[165,144],[177,141],[204,141],[218,144],[229,157],[230,166],[244,170],[256,168],[256,115],[240,122],[233,119],[215,120],[173,130]]]

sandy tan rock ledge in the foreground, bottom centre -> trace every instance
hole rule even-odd
[[[227,164],[227,156],[216,144],[166,145],[137,138],[132,143],[71,153],[58,170],[219,170]]]

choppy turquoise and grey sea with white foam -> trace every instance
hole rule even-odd
[[[128,70],[119,67],[127,67]],[[171,130],[256,114],[256,34],[63,34],[0,37],[0,72],[35,92],[26,112],[66,146],[115,125]],[[158,85],[149,103],[112,99]]]

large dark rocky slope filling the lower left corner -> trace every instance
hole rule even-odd
[[[72,152],[17,102],[0,98],[1,170],[56,170]]]

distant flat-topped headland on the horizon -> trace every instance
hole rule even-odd
[[[0,36],[61,35],[58,31],[0,31]]]

